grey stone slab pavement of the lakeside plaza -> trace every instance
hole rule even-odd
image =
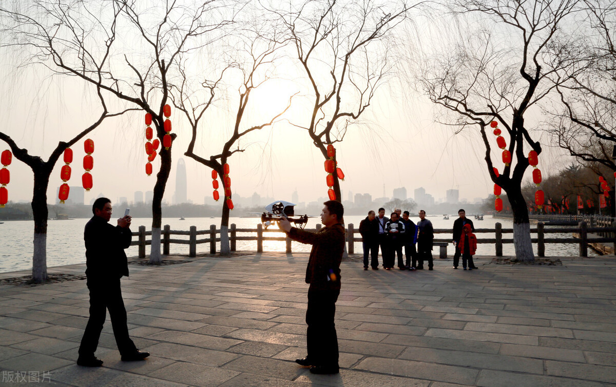
[[[306,254],[130,265],[122,280],[129,329],[152,356],[121,362],[108,321],[100,369],[75,364],[88,313],[84,280],[1,285],[0,385],[616,383],[616,258],[561,259],[563,266],[511,266],[479,257],[470,272],[440,259],[434,271],[416,272],[342,263],[339,375],[312,375],[293,362],[306,352]],[[83,271],[84,264],[50,269]]]

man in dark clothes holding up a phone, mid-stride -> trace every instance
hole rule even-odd
[[[77,364],[86,367],[100,367],[103,364],[94,352],[99,344],[107,309],[122,361],[139,361],[150,356],[148,352],[140,352],[128,336],[126,309],[120,290],[120,278],[123,275],[128,277],[124,249],[131,245],[131,217],[127,215],[118,219],[118,226],[113,227],[108,224],[111,212],[111,200],[97,198],[92,205],[94,216],[84,229],[90,318],[79,346]]]

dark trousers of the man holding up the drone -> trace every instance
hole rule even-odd
[[[340,290],[308,290],[306,343],[312,365],[338,366],[338,336],[334,325]]]

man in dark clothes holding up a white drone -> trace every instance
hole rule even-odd
[[[312,373],[338,373],[338,336],[334,325],[336,301],[340,294],[340,263],[344,251],[344,227],[340,219],[344,214],[342,203],[328,200],[323,203],[322,229],[310,232],[291,227],[282,218],[278,227],[293,240],[312,245],[306,283],[308,309],[306,311],[307,356],[296,359],[299,365],[310,367]]]

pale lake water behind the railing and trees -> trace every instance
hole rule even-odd
[[[359,222],[365,218],[365,216],[345,216],[347,224],[352,223],[357,229]],[[411,218],[414,222],[419,221],[419,218]],[[442,219],[441,216],[429,216],[428,219],[432,222],[435,229],[451,229],[453,221],[456,216],[450,216],[450,219]],[[472,218],[471,218],[472,219]],[[86,261],[85,253],[86,248],[83,242],[83,228],[89,219],[70,219],[70,220],[50,220],[47,227],[47,267],[63,266],[68,264],[84,263]],[[503,229],[511,229],[513,227],[513,221],[509,219],[492,219],[490,216],[485,216],[484,221],[476,221],[473,219],[476,228],[481,229],[493,229],[495,222],[498,221],[503,225]],[[112,224],[115,224],[115,219],[111,219]],[[319,222],[318,218],[310,219],[308,225],[309,229],[314,229],[315,225]],[[163,225],[169,224],[171,230],[185,230],[188,231],[190,226],[197,226],[197,230],[209,230],[209,227],[214,224],[219,229],[221,223],[220,218],[186,218],[185,221],[180,221],[177,218],[163,219]],[[235,223],[238,228],[250,228],[256,229],[259,219],[257,218],[231,218],[229,223]],[[139,226],[145,226],[147,230],[152,227],[152,219],[146,218],[133,218],[132,219],[132,231],[137,231]],[[270,229],[275,226],[270,227]],[[32,239],[34,234],[34,222],[33,221],[4,221],[4,224],[0,224],[0,272],[9,272],[23,269],[31,269],[32,267]],[[254,235],[254,234],[253,234]],[[505,234],[505,238],[511,238],[512,234]],[[266,236],[283,236],[283,234],[268,233]],[[569,237],[569,235],[563,234],[551,234],[549,237]],[[206,235],[199,235],[197,238],[206,238]],[[359,237],[356,234],[355,237]],[[440,234],[436,235],[436,238],[450,238],[451,234],[447,236]],[[494,238],[494,234],[480,233],[477,234],[478,238]],[[136,240],[137,237],[133,237]],[[172,238],[176,239],[188,239],[188,236],[173,235]],[[256,241],[238,241],[237,250],[256,251]],[[310,245],[303,245],[302,243],[293,242],[291,246],[293,251],[310,251]],[[355,242],[355,253],[362,252],[362,243]],[[146,253],[149,253],[150,247],[147,246]],[[285,242],[276,241],[264,241],[264,251],[285,251]],[[217,247],[218,250],[218,247]],[[534,246],[535,253],[537,252],[537,246]],[[545,248],[546,256],[576,256],[578,255],[578,245],[567,244],[546,244]],[[209,244],[197,245],[197,252],[208,252]],[[170,247],[172,254],[188,254],[188,245],[172,244]],[[128,256],[137,256],[137,246],[131,246],[126,250]],[[434,251],[435,255],[438,254],[438,250]],[[448,247],[449,255],[453,255],[452,245]],[[492,244],[480,243],[477,246],[477,255],[494,255],[495,248]],[[589,249],[589,255],[593,255],[594,252]],[[503,245],[503,255],[513,256],[513,244]]]

